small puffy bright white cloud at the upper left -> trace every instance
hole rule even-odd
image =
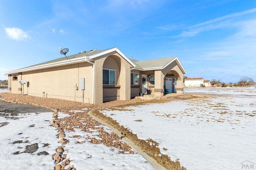
[[[31,39],[31,37],[20,28],[16,28],[16,27],[5,28],[5,31],[8,37],[16,41],[23,40],[23,39]]]

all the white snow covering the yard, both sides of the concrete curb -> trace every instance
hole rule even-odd
[[[188,92],[214,95],[102,112],[139,138],[158,142],[163,154],[179,159],[188,170],[241,169],[255,163],[256,89],[185,88],[184,93]],[[0,169],[54,169],[52,156],[60,144],[58,131],[50,126],[52,113],[12,115],[0,109],[0,114],[0,159],[4,162]],[[140,154],[120,154],[115,147],[90,143],[90,138],[99,138],[96,129],[91,131],[74,127],[65,132],[69,143],[64,154],[72,160],[68,166],[77,170],[155,169]]]

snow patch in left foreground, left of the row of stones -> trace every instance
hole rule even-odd
[[[12,115],[0,110],[0,169],[54,169],[52,155],[60,144],[51,119],[52,113]]]

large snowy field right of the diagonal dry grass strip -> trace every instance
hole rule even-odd
[[[158,142],[162,153],[179,159],[188,170],[241,169],[246,160],[256,162],[255,88],[184,91],[218,95],[125,107],[122,111],[104,109],[102,113],[140,139]]]

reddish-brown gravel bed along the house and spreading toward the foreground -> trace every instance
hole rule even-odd
[[[117,149],[122,150],[120,151],[120,153],[127,152],[127,151],[130,153],[133,153],[133,151],[128,144],[122,143],[120,141],[120,137],[116,133],[111,133],[111,134],[106,133],[103,130],[103,127],[100,127],[100,125],[102,124],[87,114],[88,111],[101,109],[101,108],[116,107],[116,106],[132,106],[132,105],[145,104],[145,103],[151,103],[151,102],[158,103],[158,102],[166,102],[170,100],[183,100],[183,99],[188,99],[193,97],[192,94],[166,95],[164,97],[159,97],[159,98],[146,95],[143,97],[136,97],[134,99],[127,100],[127,101],[118,100],[118,101],[106,102],[103,104],[92,105],[92,104],[82,104],[81,102],[73,102],[73,101],[53,99],[53,98],[37,98],[34,96],[21,95],[21,94],[1,93],[0,96],[2,96],[1,99],[6,102],[43,106],[43,107],[55,110],[55,112],[60,111],[60,112],[67,113],[70,115],[69,117],[64,117],[60,119],[58,119],[58,117],[54,115],[55,119],[52,123],[53,123],[53,126],[58,127],[60,130],[59,133],[62,136],[60,136],[59,138],[65,137],[63,136],[64,131],[74,131],[73,127],[82,129],[82,131],[85,131],[88,133],[92,133],[90,129],[98,129],[100,133],[99,137],[101,138],[101,140],[91,138],[90,139],[91,143],[94,143],[94,144],[101,143],[108,147],[116,147]],[[71,112],[72,110],[81,110],[83,112],[77,112],[74,114],[73,112]],[[74,136],[74,137],[79,138],[79,136]],[[56,158],[56,160],[58,159]],[[58,165],[57,168],[64,169],[65,166],[69,164],[69,162],[70,160],[66,160],[66,162],[63,162],[61,166]],[[184,169],[183,167],[182,168],[180,167],[179,163],[178,163],[178,166],[179,166],[178,169]],[[170,169],[168,167],[165,167],[165,168]]]

